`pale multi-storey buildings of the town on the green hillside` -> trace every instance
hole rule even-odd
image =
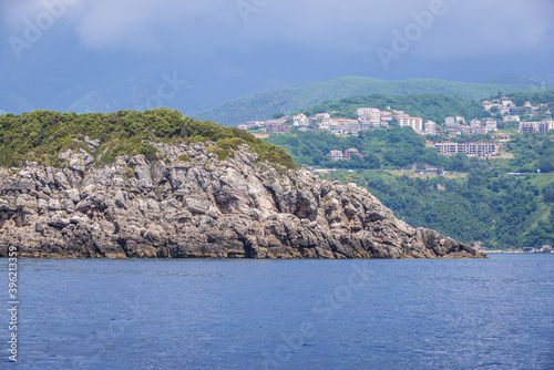
[[[463,135],[481,135],[496,133],[499,131],[499,122],[519,123],[519,132],[550,132],[554,131],[554,120],[546,104],[533,106],[530,102],[517,106],[509,97],[502,97],[493,101],[484,101],[483,110],[491,113],[491,117],[466,120],[463,116],[448,116],[440,124],[424,120],[422,117],[413,117],[403,111],[392,110],[387,106],[381,110],[377,106],[359,107],[356,111],[357,120],[334,116],[334,113],[318,113],[314,116],[306,114],[297,114],[293,116],[283,116],[268,121],[247,122],[238,126],[242,130],[263,131],[265,133],[289,133],[291,127],[298,131],[308,130],[327,130],[335,135],[357,136],[362,130],[371,129],[388,129],[392,124],[399,126],[409,126],[420,135],[440,135],[441,142],[435,143],[439,154],[450,156],[458,153],[466,154],[468,156],[491,157],[499,153],[499,144],[496,143],[455,143],[450,142],[449,137]],[[541,121],[529,121],[542,115]],[[544,119],[548,115],[550,119]],[[439,126],[439,129],[438,129]],[[510,140],[509,135],[495,134],[494,140],[499,143]],[[331,151],[329,153],[332,161],[350,160],[351,154],[358,152],[356,148],[348,150],[350,152],[342,153],[340,151]],[[356,153],[358,155],[358,153]]]

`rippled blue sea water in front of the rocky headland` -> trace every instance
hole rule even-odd
[[[2,369],[554,369],[554,255],[18,268]]]

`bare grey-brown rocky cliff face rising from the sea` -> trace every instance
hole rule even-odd
[[[155,145],[157,162],[95,168],[80,150],[59,155],[62,168],[0,169],[0,256],[14,245],[28,257],[484,257],[356,185],[277,172],[246,145],[226,160],[212,143]]]

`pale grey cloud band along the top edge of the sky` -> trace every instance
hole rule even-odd
[[[49,3],[70,0],[44,0]],[[43,0],[3,1],[2,22],[22,28]],[[413,12],[441,0],[71,0],[68,27],[85,49],[211,55],[268,45],[369,53],[390,47]],[[443,0],[410,52],[430,58],[553,51],[552,0]],[[246,8],[244,8],[246,4]],[[243,6],[243,8],[240,8]],[[246,10],[245,10],[246,9]]]

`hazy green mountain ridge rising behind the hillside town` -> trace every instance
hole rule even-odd
[[[407,95],[440,93],[468,100],[481,100],[499,92],[530,92],[535,86],[481,84],[441,80],[409,79],[383,81],[346,76],[300,88],[257,93],[227,102],[216,109],[194,114],[194,117],[236,126],[240,123],[270,119],[275,112],[294,113],[326,101],[345,97],[383,94]]]

